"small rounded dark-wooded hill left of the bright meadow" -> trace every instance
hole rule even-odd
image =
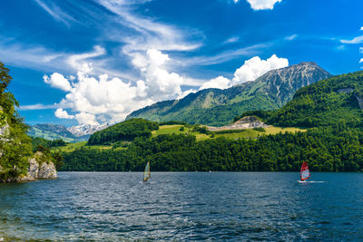
[[[89,145],[112,144],[117,141],[131,141],[136,137],[152,137],[152,131],[159,129],[159,123],[132,119],[117,123],[103,131],[97,131],[88,140]]]

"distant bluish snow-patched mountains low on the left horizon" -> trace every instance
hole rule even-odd
[[[67,142],[79,142],[88,140],[93,132],[102,131],[108,126],[109,125],[107,123],[103,123],[101,125],[81,124],[67,128],[60,124],[39,123],[31,126],[28,134],[30,136],[41,137],[46,140],[61,139]]]

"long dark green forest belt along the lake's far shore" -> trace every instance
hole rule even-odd
[[[125,150],[83,148],[64,153],[63,170],[141,171],[298,171],[309,161],[313,171],[362,171],[363,131],[346,125],[259,139],[196,141],[194,136],[136,138]]]

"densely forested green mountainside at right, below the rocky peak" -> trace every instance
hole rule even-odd
[[[363,72],[348,73],[301,88],[278,111],[248,111],[269,124],[359,128],[363,122]]]

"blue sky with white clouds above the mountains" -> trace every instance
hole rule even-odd
[[[5,0],[0,61],[31,124],[123,121],[313,61],[363,66],[361,0]]]

